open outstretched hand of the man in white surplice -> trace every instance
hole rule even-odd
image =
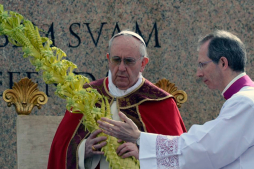
[[[102,117],[101,120],[98,120],[99,127],[108,135],[136,144],[136,141],[140,136],[138,127],[122,112],[119,112],[119,117],[122,121],[115,121]]]

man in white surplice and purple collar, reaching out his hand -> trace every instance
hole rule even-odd
[[[181,136],[143,133],[103,118],[104,132],[139,145],[141,169],[253,169],[254,83],[245,73],[246,49],[235,35],[215,31],[199,41],[197,76],[226,99],[219,116]]]

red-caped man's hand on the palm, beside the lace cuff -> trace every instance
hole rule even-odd
[[[122,140],[118,140],[118,142],[122,142]],[[139,150],[136,144],[131,142],[125,142],[120,145],[116,153],[121,156],[122,158],[127,158],[134,156],[136,159],[139,159]]]

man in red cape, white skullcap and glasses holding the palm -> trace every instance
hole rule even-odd
[[[108,77],[89,85],[109,98],[112,118],[121,111],[144,132],[181,135],[186,131],[173,96],[142,76],[149,58],[146,43],[140,35],[131,31],[114,35],[109,41],[107,60]],[[66,111],[51,145],[48,169],[89,168],[89,159],[92,159],[92,168],[105,166],[101,155],[100,165],[94,159],[102,154],[99,150],[106,144],[106,138],[95,137],[98,130],[92,134],[86,131],[81,123],[82,116]],[[134,156],[138,151],[135,146],[132,144]]]

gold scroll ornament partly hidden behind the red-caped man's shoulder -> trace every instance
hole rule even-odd
[[[176,99],[178,108],[180,108],[181,105],[187,101],[186,92],[183,90],[177,90],[175,84],[171,83],[169,80],[165,78],[160,79],[157,83],[155,83],[155,85],[173,95]]]

